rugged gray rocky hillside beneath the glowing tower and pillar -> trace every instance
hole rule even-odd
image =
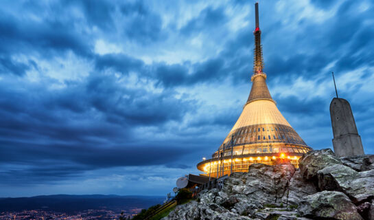
[[[374,220],[374,155],[338,158],[312,151],[292,164],[253,164],[233,173],[222,190],[200,192],[163,220],[370,219]]]

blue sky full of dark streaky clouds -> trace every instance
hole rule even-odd
[[[0,197],[166,195],[250,91],[255,1],[0,1]],[[349,100],[374,153],[374,1],[259,1],[277,107],[331,148]]]

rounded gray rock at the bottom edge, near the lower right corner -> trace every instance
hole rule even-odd
[[[312,219],[362,219],[349,197],[342,192],[336,191],[317,192],[314,195],[304,197],[299,213],[303,217]]]

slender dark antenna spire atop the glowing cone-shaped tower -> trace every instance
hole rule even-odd
[[[264,69],[264,58],[262,58],[261,30],[259,30],[259,3],[255,3],[256,28],[255,32],[255,56],[253,61],[253,74],[261,74]]]

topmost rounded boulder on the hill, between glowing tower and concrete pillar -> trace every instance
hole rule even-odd
[[[316,179],[318,170],[334,164],[342,164],[342,162],[340,162],[340,159],[335,156],[330,148],[309,151],[299,159],[301,175],[307,180]]]

